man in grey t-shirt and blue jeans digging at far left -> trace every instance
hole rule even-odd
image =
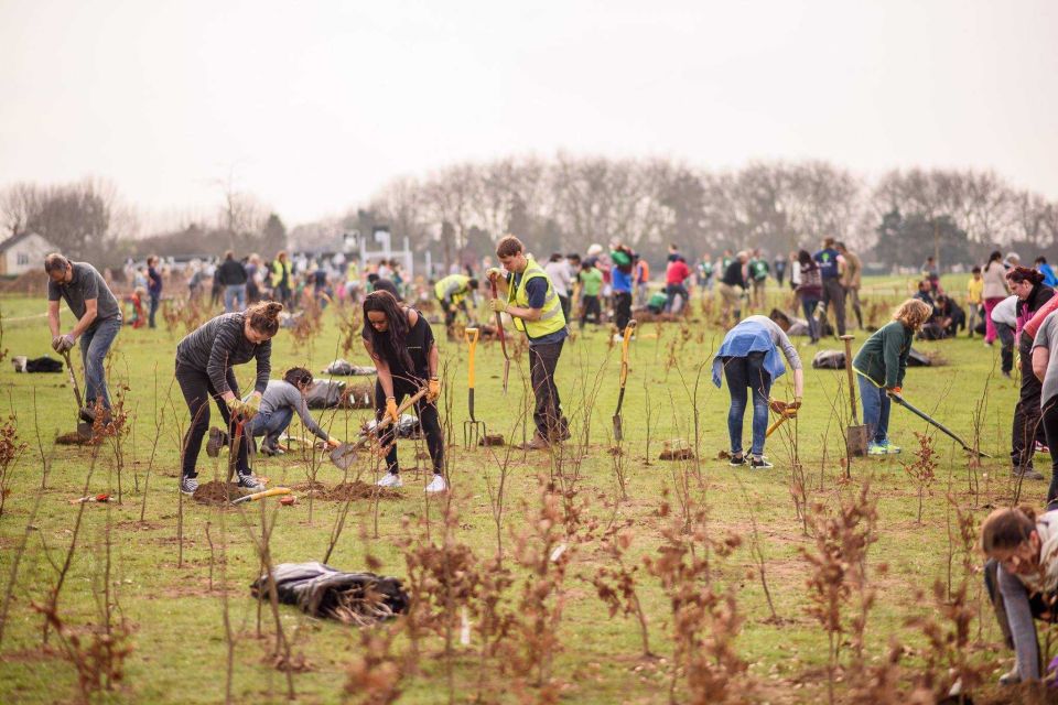
[[[44,258],[47,272],[47,324],[52,329],[52,347],[65,352],[80,338],[80,359],[85,366],[85,404],[82,415],[94,420],[91,406],[110,409],[106,371],[102,361],[121,329],[121,310],[107,282],[87,262],[71,262],[53,252]],[[69,333],[60,329],[58,302],[64,300],[77,322]]]

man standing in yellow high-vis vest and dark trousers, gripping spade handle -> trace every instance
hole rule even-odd
[[[498,269],[488,270],[489,281],[496,282],[499,296],[489,305],[493,311],[510,315],[515,327],[529,338],[529,375],[537,405],[532,413],[537,432],[528,447],[544,451],[552,443],[570,437],[569,424],[562,415],[562,402],[554,383],[554,368],[565,343],[565,316],[562,302],[543,268],[526,256],[521,241],[508,235],[496,245],[508,274]]]

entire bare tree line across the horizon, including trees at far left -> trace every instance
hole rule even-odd
[[[165,254],[199,243],[263,253],[285,243],[285,227],[252,194],[230,177],[217,186],[215,223],[187,223],[147,242],[136,212],[100,180],[11,185],[0,192],[0,217],[8,235],[40,232],[73,257],[138,254],[144,247]],[[1058,204],[992,171],[893,170],[872,178],[823,161],[715,171],[667,159],[566,153],[465,162],[396,178],[345,218],[305,224],[292,236],[295,246],[325,247],[343,229],[385,225],[446,263],[487,253],[505,232],[522,237],[538,254],[584,251],[616,237],[657,260],[670,241],[695,254],[751,246],[779,253],[829,236],[867,251],[879,237],[894,237],[883,227],[894,213],[917,218],[909,239],[942,223],[949,251],[963,253],[965,263],[995,246],[1043,252],[1058,240]],[[876,256],[898,263],[888,260],[902,249],[879,248]]]

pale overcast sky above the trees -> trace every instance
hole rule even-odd
[[[1054,0],[0,0],[0,186],[102,176],[163,213],[230,171],[295,225],[565,150],[992,167],[1058,198],[1056,37]]]

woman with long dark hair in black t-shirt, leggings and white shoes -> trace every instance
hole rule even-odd
[[[397,465],[396,427],[399,421],[397,405],[404,397],[414,395],[425,383],[427,395],[415,403],[419,424],[427,436],[427,448],[433,460],[433,480],[428,492],[443,492],[444,437],[438,417],[436,399],[441,394],[438,378],[438,346],[433,329],[414,308],[401,306],[388,291],[374,291],[364,300],[364,347],[375,361],[378,382],[375,384],[375,411],[379,421],[389,416],[392,425],[382,434],[388,445],[386,467],[389,470],[378,481],[382,487],[400,487]]]

